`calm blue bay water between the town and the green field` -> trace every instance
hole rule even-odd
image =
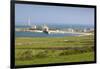
[[[16,32],[16,37],[63,37],[63,36],[77,36],[79,34],[71,33],[37,33],[37,32]]]

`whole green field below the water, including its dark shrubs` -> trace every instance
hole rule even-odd
[[[94,36],[16,37],[15,64],[94,61]]]

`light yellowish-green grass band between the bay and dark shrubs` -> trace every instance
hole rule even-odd
[[[68,41],[65,41],[68,40]],[[86,46],[93,45],[93,37],[21,37],[16,38],[16,48],[42,48],[42,47],[73,47],[73,46]],[[90,43],[90,44],[89,44]],[[19,44],[19,45],[18,45]]]

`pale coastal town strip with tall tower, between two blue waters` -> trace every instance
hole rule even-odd
[[[41,26],[32,25],[30,22],[30,18],[28,18],[28,25],[27,28],[16,28],[15,31],[21,31],[21,32],[39,32],[39,33],[74,33],[74,34],[82,34],[82,35],[92,35],[94,33],[93,28],[84,28],[84,29],[73,29],[73,28],[66,28],[66,29],[57,29],[57,28],[49,28],[46,24],[43,24]]]

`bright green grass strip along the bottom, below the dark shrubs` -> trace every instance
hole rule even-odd
[[[68,62],[85,62],[94,61],[94,53],[82,53],[55,58],[33,58],[32,60],[17,60],[16,65],[35,65],[35,64],[50,64],[50,63],[68,63]]]

